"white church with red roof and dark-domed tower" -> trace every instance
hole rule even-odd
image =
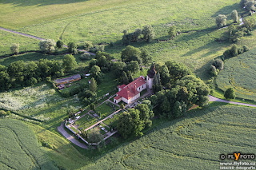
[[[143,89],[153,88],[153,79],[155,74],[156,71],[153,67],[147,74],[146,79],[145,77],[140,76],[128,85],[118,85],[118,93],[116,93],[116,97],[114,97],[114,102],[119,103],[120,101],[123,101],[130,104],[138,99]]]

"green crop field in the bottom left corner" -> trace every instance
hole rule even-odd
[[[0,169],[58,169],[22,121],[0,119]]]

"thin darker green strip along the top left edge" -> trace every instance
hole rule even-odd
[[[68,4],[68,3],[77,3],[77,2],[86,2],[88,0],[5,0],[1,3],[11,3],[14,6],[49,6],[56,4]]]

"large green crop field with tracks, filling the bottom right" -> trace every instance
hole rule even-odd
[[[195,110],[123,144],[85,169],[218,169],[222,153],[256,152],[255,112],[234,106]]]

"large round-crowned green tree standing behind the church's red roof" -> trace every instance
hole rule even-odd
[[[138,48],[135,48],[134,46],[128,45],[125,49],[122,49],[122,61],[123,62],[130,62],[138,60],[138,57],[140,56],[140,50]]]

